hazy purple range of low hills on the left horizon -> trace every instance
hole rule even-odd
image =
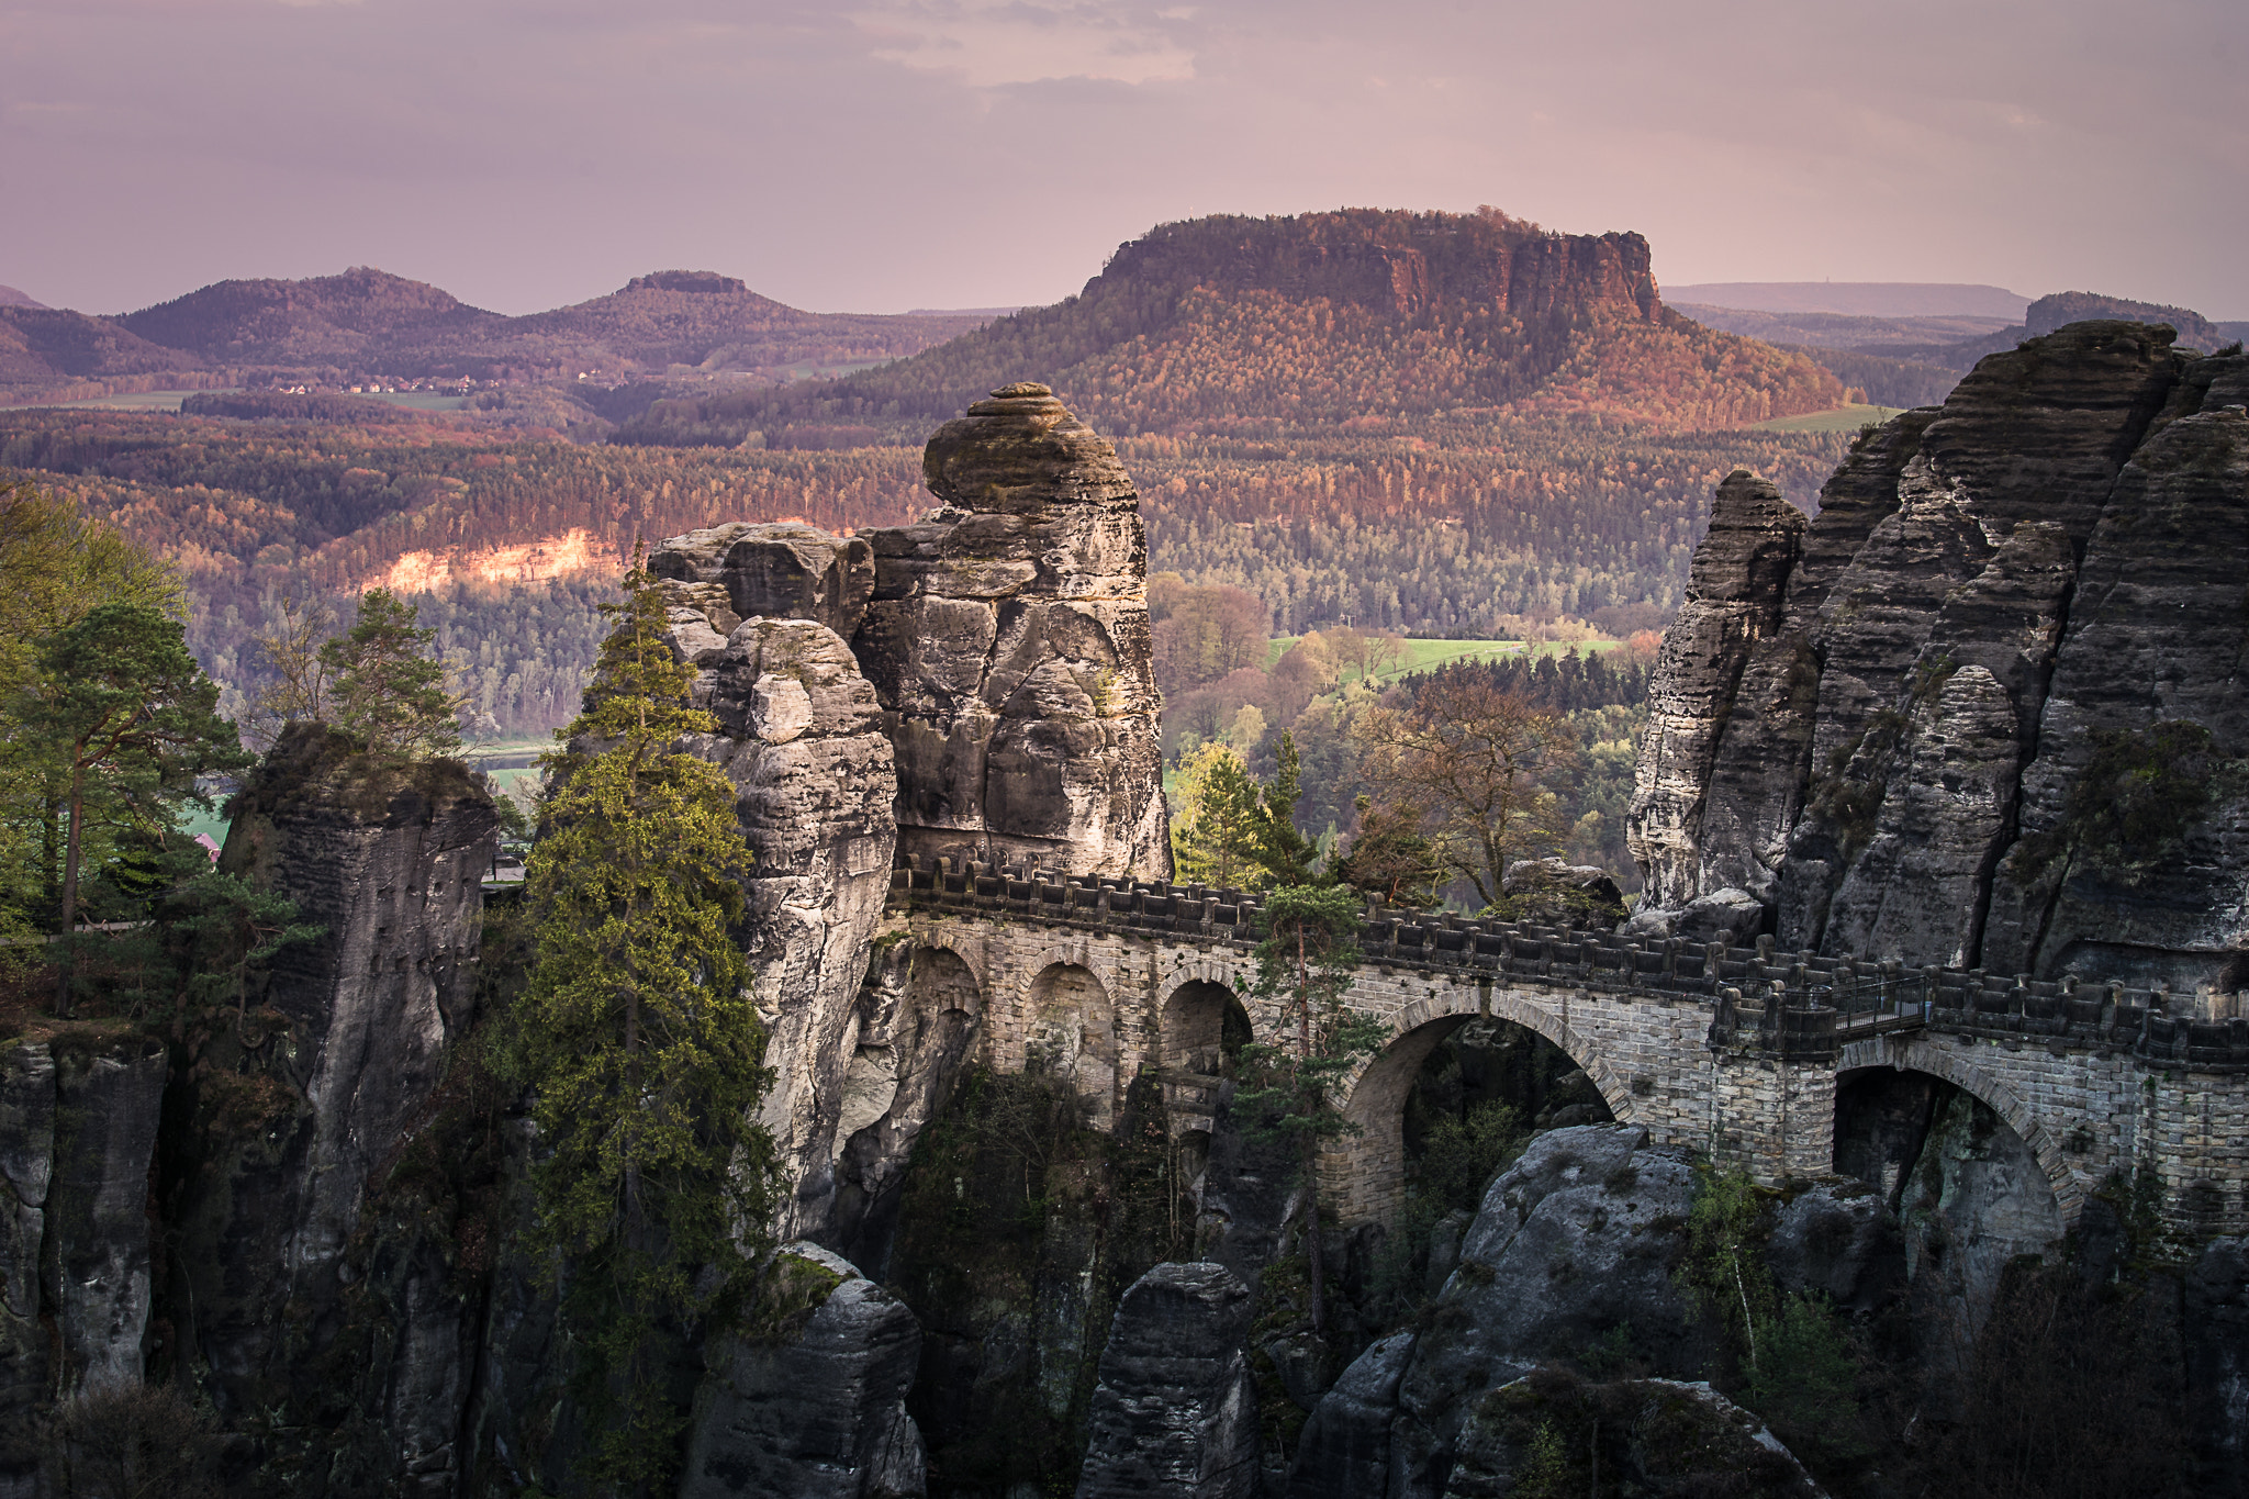
[[[699,270],[654,272],[607,297],[504,317],[367,265],[306,281],[216,281],[121,317],[11,306],[0,317],[9,319],[0,398],[13,400],[99,396],[121,389],[119,378],[153,389],[148,380],[164,375],[187,387],[720,375],[771,384],[897,360],[990,321],[985,312],[798,312]]]

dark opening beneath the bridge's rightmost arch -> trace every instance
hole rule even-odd
[[[2029,1261],[2053,1263],[2062,1207],[2031,1144],[1984,1099],[1930,1072],[1858,1068],[1835,1079],[1835,1171],[1896,1214],[1916,1315],[1968,1348]]]

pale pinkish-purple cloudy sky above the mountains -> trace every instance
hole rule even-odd
[[[1496,205],[1662,283],[2249,319],[2245,74],[2242,0],[0,0],[0,283],[897,312],[1203,214]]]

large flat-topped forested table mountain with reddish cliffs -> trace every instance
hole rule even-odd
[[[1057,306],[832,382],[657,402],[616,440],[918,443],[1008,380],[1120,436],[1457,438],[1579,414],[1687,431],[1842,402],[1808,357],[1669,312],[1637,234],[1343,209],[1163,225]]]

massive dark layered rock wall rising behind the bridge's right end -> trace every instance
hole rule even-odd
[[[1635,926],[1732,890],[1781,946],[2236,987],[2245,389],[2249,360],[2141,324],[1990,355],[1853,449],[1779,575],[1743,562],[1729,479],[1651,688]],[[2087,775],[2177,721],[2218,791],[2094,847]]]

